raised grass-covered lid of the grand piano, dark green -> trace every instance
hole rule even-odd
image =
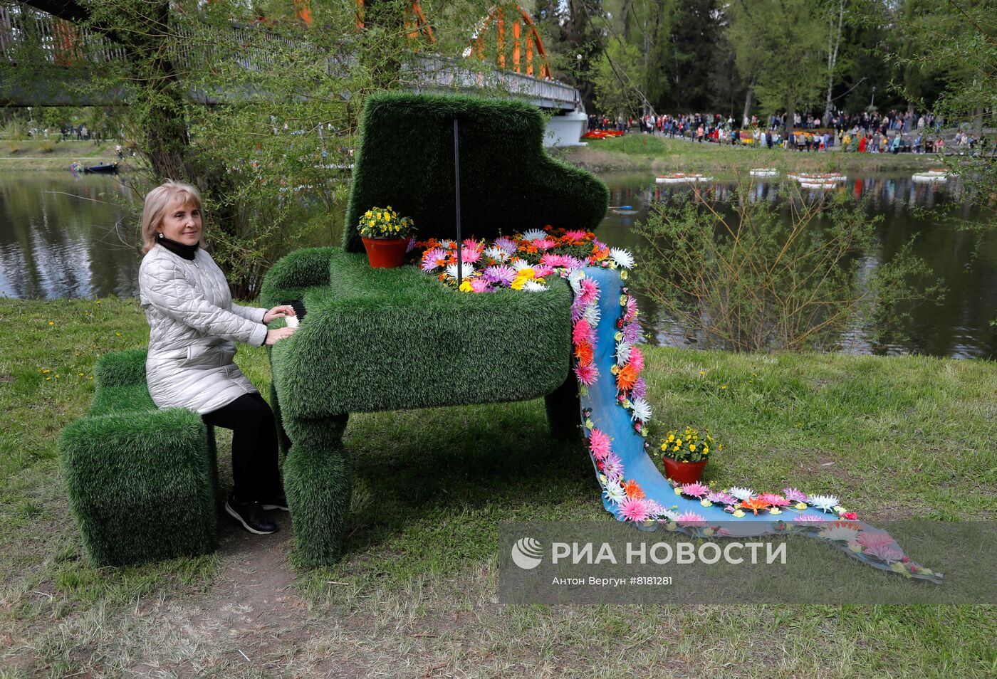
[[[420,238],[455,237],[454,119],[460,122],[465,237],[493,239],[545,224],[595,230],[609,189],[543,150],[544,120],[523,102],[385,93],[364,104],[343,247],[363,251],[360,215],[391,205]]]

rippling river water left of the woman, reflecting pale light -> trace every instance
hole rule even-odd
[[[135,295],[134,227],[119,234],[119,219],[133,200],[116,177],[0,173],[0,294]]]

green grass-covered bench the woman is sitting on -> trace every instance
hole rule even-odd
[[[145,350],[102,356],[94,375],[93,405],[59,439],[70,509],[91,560],[123,565],[213,551],[213,428],[192,411],[157,409]]]

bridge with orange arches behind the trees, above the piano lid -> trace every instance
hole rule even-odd
[[[308,28],[312,23],[308,2],[295,0],[294,4],[303,30],[291,44],[308,48],[307,31],[316,30]],[[460,57],[414,53],[402,66],[403,86],[417,92],[484,91],[527,101],[555,114],[548,126],[548,145],[576,144],[585,121],[578,91],[551,78],[542,40],[529,13],[516,7],[513,16],[506,17],[506,11],[500,6],[493,8],[479,23]],[[33,0],[13,11],[0,7],[0,59],[15,62],[19,52],[30,44],[36,50],[33,62],[39,69],[38,77],[30,79],[30,83],[0,83],[0,105],[127,105],[129,96],[125,92],[79,87],[86,78],[86,69],[79,67],[99,69],[102,65],[127,63],[126,50],[108,36],[82,26],[86,19],[87,10],[72,0]],[[357,0],[357,30],[364,28],[364,2]],[[407,12],[405,29],[410,41],[422,40],[436,46],[432,26],[418,0]],[[278,43],[288,44],[288,38],[269,31],[265,21],[250,26],[231,23],[229,30],[232,45],[245,48],[238,62],[249,71],[267,68]],[[485,63],[487,41],[489,47],[496,47],[494,65]],[[178,50],[175,60],[178,68],[188,69],[198,58],[187,47]],[[327,75],[333,77],[342,75],[350,61],[343,55],[323,58]],[[246,95],[191,90],[188,96],[192,102],[216,104]],[[343,96],[349,98],[350,93]]]

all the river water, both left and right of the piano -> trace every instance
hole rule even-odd
[[[611,209],[598,235],[611,245],[634,247],[631,227],[643,219],[651,201],[668,199],[675,184],[656,184],[651,172],[606,173],[602,178],[612,193]],[[718,198],[733,193],[734,177],[702,184]],[[947,210],[969,221],[985,217],[966,201],[956,182],[923,184],[910,172],[849,175],[837,190],[866,198],[873,214],[883,219],[877,228],[878,249],[866,252],[869,266],[890,257],[917,234],[915,251],[927,259],[948,288],[945,302],[917,308],[909,339],[872,345],[859,330],[848,350],[859,353],[917,352],[958,358],[997,358],[997,234],[988,235],[970,268],[973,237],[938,218]],[[787,199],[787,186],[760,181],[751,187],[752,199]],[[629,209],[620,209],[621,206]],[[926,215],[920,209],[932,208]],[[113,176],[69,172],[0,172],[0,295],[17,298],[134,296],[138,293],[141,253],[134,219],[138,197]],[[652,340],[682,344],[682,333],[644,301],[645,321]]]

